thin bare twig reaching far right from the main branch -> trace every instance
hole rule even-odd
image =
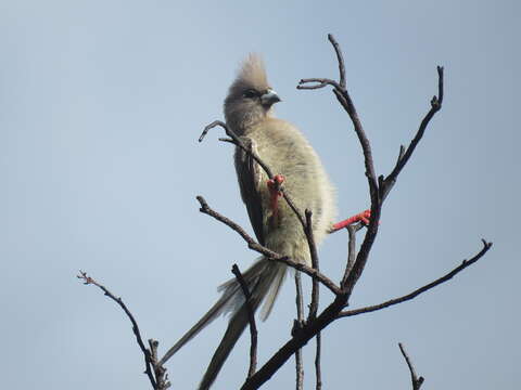
[[[365,308],[360,308],[360,309],[353,309],[353,310],[343,311],[339,314],[339,318],[340,317],[358,315],[358,314],[370,313],[370,312],[373,312],[373,311],[378,311],[378,310],[382,310],[382,309],[392,307],[394,304],[406,302],[408,300],[411,300],[411,299],[418,297],[420,294],[423,294],[423,292],[430,290],[431,288],[434,288],[434,287],[441,285],[442,283],[445,283],[445,282],[452,280],[454,276],[456,276],[458,273],[463,271],[466,268],[472,265],[478,260],[480,260],[488,251],[488,249],[491,249],[492,243],[487,243],[484,239],[482,239],[482,243],[483,243],[483,248],[474,257],[472,257],[470,260],[463,260],[461,262],[461,264],[459,264],[458,266],[456,266],[454,270],[452,270],[447,274],[443,275],[442,277],[440,277],[440,278],[437,278],[437,280],[435,280],[435,281],[433,281],[433,282],[431,282],[431,283],[429,283],[429,284],[427,284],[427,285],[424,285],[420,288],[417,288],[412,292],[409,292],[409,294],[407,294],[403,297],[390,299],[390,300],[387,300],[385,302],[382,302],[382,303],[379,303],[379,304],[373,304],[373,306],[369,306],[369,307],[365,307]]]

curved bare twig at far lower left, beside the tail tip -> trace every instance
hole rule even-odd
[[[125,314],[127,314],[128,318],[130,320],[130,322],[132,324],[134,335],[136,336],[136,340],[139,344],[139,348],[141,349],[141,352],[143,352],[144,367],[145,367],[144,373],[149,377],[149,380],[150,380],[150,384],[152,385],[152,388],[154,390],[167,389],[170,386],[170,384],[168,381],[162,380],[163,377],[161,378],[161,380],[160,380],[160,378],[154,378],[153,369],[155,367],[154,367],[154,364],[153,364],[154,362],[152,360],[152,354],[151,354],[150,350],[148,350],[147,347],[144,347],[143,339],[141,338],[141,333],[139,332],[138,323],[137,323],[136,318],[134,317],[132,313],[130,313],[130,311],[128,310],[127,306],[123,302],[123,299],[122,298],[116,298],[105,286],[99,284],[92,277],[88,276],[87,272],[84,272],[84,271],[80,270],[79,274],[76,277],[79,278],[79,280],[82,280],[85,285],[98,286],[105,294],[105,296],[111,298],[114,302],[116,302],[123,309],[123,311],[125,312]],[[157,373],[157,370],[155,370],[155,372]],[[165,375],[165,374],[166,374],[166,369],[163,368],[163,375]],[[160,385],[162,387],[160,387]]]

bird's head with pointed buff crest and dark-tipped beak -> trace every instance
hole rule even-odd
[[[225,117],[238,133],[263,120],[271,106],[280,102],[277,92],[269,86],[263,60],[250,54],[243,62],[225,100]]]

